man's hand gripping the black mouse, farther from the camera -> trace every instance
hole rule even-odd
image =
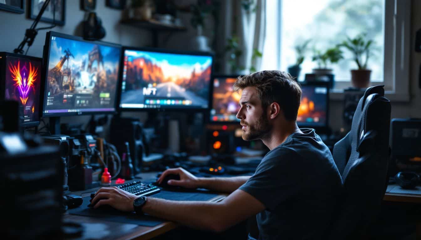
[[[159,184],[162,183],[163,179],[170,174],[176,174],[180,176],[180,180],[171,179],[168,181],[168,185],[171,186],[179,186],[185,188],[197,188],[199,187],[199,179],[195,177],[193,174],[189,173],[185,169],[176,168],[176,169],[167,169],[165,170],[161,176],[158,178],[157,182]]]

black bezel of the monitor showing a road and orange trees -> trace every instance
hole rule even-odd
[[[121,104],[121,95],[122,95],[122,85],[123,85],[123,73],[124,73],[124,55],[126,50],[131,51],[147,51],[147,52],[155,52],[155,53],[173,53],[173,54],[181,54],[181,55],[199,55],[199,56],[209,56],[212,58],[212,64],[210,68],[210,80],[209,80],[209,96],[208,96],[208,107],[207,108],[122,108],[120,107]],[[187,113],[206,113],[210,110],[212,105],[212,95],[213,95],[213,68],[215,65],[215,55],[210,52],[202,52],[202,51],[188,51],[188,50],[173,50],[173,49],[164,49],[164,48],[155,48],[155,47],[128,47],[123,46],[121,51],[121,61],[120,61],[120,81],[118,84],[118,91],[117,91],[117,112],[176,112],[176,111],[183,111]]]

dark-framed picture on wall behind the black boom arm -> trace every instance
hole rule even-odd
[[[45,0],[30,0],[30,12],[29,18],[37,18],[38,13],[40,12]],[[55,21],[53,22],[53,11],[55,3]],[[46,23],[55,23],[56,25],[63,26],[66,13],[66,0],[51,0],[47,8],[45,8],[44,14],[41,17],[42,22]]]

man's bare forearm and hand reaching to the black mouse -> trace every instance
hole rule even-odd
[[[232,193],[243,185],[251,176],[243,177],[221,177],[221,178],[204,178],[195,177],[188,171],[177,168],[165,170],[160,178],[157,180],[161,184],[163,179],[169,174],[176,174],[180,176],[180,180],[169,180],[168,185],[180,186],[186,188],[207,188],[219,193]]]

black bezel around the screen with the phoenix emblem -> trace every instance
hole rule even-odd
[[[40,63],[41,63],[41,69],[40,69],[40,92],[39,92],[39,94],[40,94],[40,98],[38,99],[39,100],[39,103],[38,103],[38,109],[39,109],[39,112],[38,112],[38,121],[30,121],[30,122],[27,122],[27,123],[20,123],[20,126],[21,127],[36,127],[36,126],[38,126],[38,125],[40,125],[40,121],[41,121],[41,117],[42,117],[42,115],[40,115],[40,112],[42,111],[42,108],[43,108],[43,105],[41,104],[42,102],[41,102],[41,98],[42,98],[42,92],[43,92],[43,89],[42,89],[42,85],[43,85],[43,75],[42,75],[42,72],[43,72],[43,59],[42,58],[38,58],[38,57],[33,57],[33,56],[28,56],[28,55],[21,55],[21,54],[16,54],[16,53],[8,53],[8,52],[0,52],[0,56],[1,57],[3,57],[4,58],[4,63],[6,62],[6,57],[8,57],[8,56],[11,56],[11,57],[15,57],[15,58],[24,58],[24,59],[28,59],[29,61],[40,61]],[[6,73],[6,64],[1,64],[0,65],[0,72],[2,72],[2,73]],[[5,79],[5,74],[1,74],[1,76],[0,76],[0,89],[1,89],[1,91],[0,91],[0,99],[4,99],[5,98],[5,84],[6,84],[6,79]]]

